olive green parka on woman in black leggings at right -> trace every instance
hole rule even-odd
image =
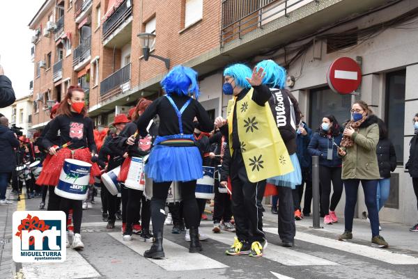
[[[343,180],[378,180],[380,179],[376,146],[379,142],[378,117],[369,117],[355,131],[352,138],[354,145],[343,148],[346,156],[343,157]]]

